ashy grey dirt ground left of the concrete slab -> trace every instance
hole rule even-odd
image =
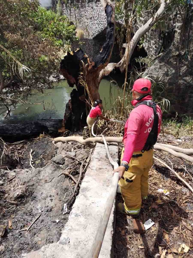
[[[67,175],[59,175],[70,166],[65,171],[71,170],[77,181],[81,162],[90,154],[79,143],[54,145],[49,136],[20,142],[12,153],[14,149],[20,164],[12,171],[0,170],[0,257],[4,258],[21,257],[59,240],[75,198],[67,214],[63,206],[76,185]],[[30,167],[31,149],[35,169]],[[19,231],[38,216],[28,231]]]

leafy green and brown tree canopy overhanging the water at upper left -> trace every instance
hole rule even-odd
[[[40,7],[38,0],[2,0],[0,14],[0,106],[8,108],[31,90],[50,86],[59,53],[77,38],[66,16]]]

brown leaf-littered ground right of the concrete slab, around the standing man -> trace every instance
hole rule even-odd
[[[178,142],[173,136],[165,135],[164,138],[160,136],[158,142],[182,148],[193,148],[192,137],[185,136],[181,139],[182,143],[179,143],[180,141]],[[188,164],[163,151],[155,151],[155,156],[156,154],[170,167],[172,166],[170,162],[172,162],[175,171],[193,187],[193,179],[187,173],[184,176],[184,169],[181,166],[186,166],[193,177],[190,162]],[[167,189],[169,195],[165,196],[157,192],[159,188]],[[146,230],[144,235],[134,234],[131,218],[116,211],[114,258],[193,257],[192,196],[192,192],[182,181],[169,169],[155,161],[150,170],[148,200],[142,203],[139,217],[143,223],[151,219],[155,224]],[[123,202],[120,194],[117,202]],[[164,250],[167,250],[165,255]]]

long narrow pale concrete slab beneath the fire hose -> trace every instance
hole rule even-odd
[[[109,145],[113,160],[118,160],[118,146]],[[112,182],[112,166],[103,144],[97,143],[58,243],[25,254],[27,258],[87,258]],[[100,258],[112,257],[114,209],[110,215]]]

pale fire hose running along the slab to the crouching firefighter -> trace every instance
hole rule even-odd
[[[93,123],[93,126],[92,126],[92,135],[95,136],[95,137],[96,137],[96,135],[93,132],[93,128],[94,128],[95,123],[97,121],[98,120],[96,120]],[[112,121],[123,122],[123,121],[119,121],[119,120],[112,120]],[[106,139],[105,139],[104,135],[101,134],[100,136],[103,138],[103,142],[104,142],[104,145],[105,145],[107,156],[109,158],[109,161],[110,161],[111,165],[113,166],[113,168],[115,170],[116,168],[119,167],[119,165],[118,165],[117,162],[113,161],[113,159],[111,158],[109,148],[108,148],[108,145],[106,143]],[[87,256],[88,258],[98,258],[98,256],[99,256],[100,249],[101,249],[103,239],[104,239],[104,236],[105,236],[105,232],[106,232],[106,227],[107,227],[109,217],[110,217],[110,214],[111,214],[111,210],[112,210],[112,206],[113,206],[113,203],[114,203],[114,200],[115,200],[118,182],[119,182],[119,173],[115,172],[113,174],[113,177],[112,177],[112,185],[111,185],[109,196],[106,200],[106,204],[105,204],[105,207],[104,207],[104,213],[101,216],[99,226],[98,226],[98,229],[96,231],[96,235],[93,239],[93,243],[92,243],[92,246],[90,248],[90,252]]]

